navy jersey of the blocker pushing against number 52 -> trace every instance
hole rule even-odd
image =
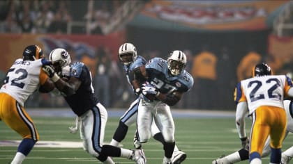
[[[75,77],[82,81],[80,88],[73,95],[64,97],[73,110],[80,116],[93,108],[98,103],[98,99],[93,95],[93,85],[91,80],[91,72],[84,63],[76,62],[70,64],[70,77]]]

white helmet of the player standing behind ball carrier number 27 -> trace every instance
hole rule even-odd
[[[133,44],[124,43],[119,47],[118,51],[119,60],[123,65],[133,63],[137,58],[137,51]]]

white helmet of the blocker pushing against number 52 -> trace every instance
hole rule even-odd
[[[70,55],[65,49],[53,49],[50,53],[49,60],[53,65],[59,65],[61,68],[71,63]]]

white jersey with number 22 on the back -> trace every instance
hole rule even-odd
[[[236,86],[235,101],[247,101],[250,114],[259,106],[284,108],[284,95],[291,87],[292,81],[285,75],[253,77]]]

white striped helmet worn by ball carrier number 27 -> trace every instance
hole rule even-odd
[[[169,58],[167,58],[167,65],[170,73],[177,76],[183,72],[186,67],[186,54],[180,50],[172,51]]]

